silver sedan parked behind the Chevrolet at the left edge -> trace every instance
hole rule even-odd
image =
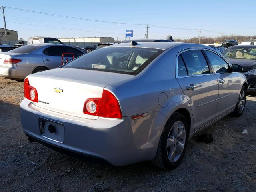
[[[24,79],[32,73],[61,65],[62,54],[72,52],[78,57],[84,52],[73,46],[60,44],[30,44],[0,54],[0,76]],[[68,60],[71,55],[66,55]]]

